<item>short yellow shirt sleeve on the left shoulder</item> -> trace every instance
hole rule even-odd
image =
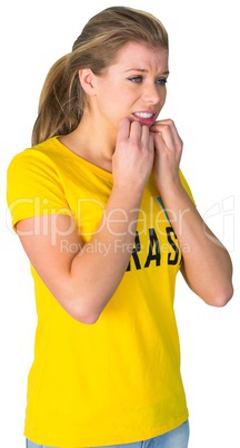
[[[33,148],[11,160],[7,172],[7,202],[13,227],[19,221],[33,216],[72,215],[58,167],[50,157]]]

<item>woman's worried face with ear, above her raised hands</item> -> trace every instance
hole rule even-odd
[[[151,126],[166,101],[168,50],[131,42],[104,74],[94,77],[91,106],[94,117],[109,132],[127,117]]]

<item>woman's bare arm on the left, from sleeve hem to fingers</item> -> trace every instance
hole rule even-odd
[[[152,163],[153,139],[148,128],[123,120],[112,159],[112,193],[89,243],[83,244],[69,216],[37,216],[17,224],[33,267],[63,309],[80,322],[98,320],[122,279]]]

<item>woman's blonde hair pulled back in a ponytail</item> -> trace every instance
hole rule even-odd
[[[87,105],[79,70],[90,68],[96,75],[101,75],[114,61],[122,46],[130,41],[168,49],[168,33],[163,25],[144,11],[111,7],[87,22],[72,51],[59,59],[46,78],[32,130],[32,145],[77,128]]]

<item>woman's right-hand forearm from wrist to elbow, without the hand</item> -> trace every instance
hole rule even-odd
[[[207,303],[226,304],[232,295],[232,264],[227,250],[180,184],[163,193],[162,199],[182,250],[187,283]]]

